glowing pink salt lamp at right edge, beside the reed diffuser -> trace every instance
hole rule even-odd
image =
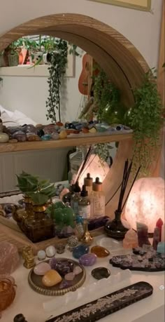
[[[127,200],[126,220],[136,230],[136,222],[147,224],[153,233],[158,218],[164,220],[164,180],[162,177],[143,177],[134,183]]]

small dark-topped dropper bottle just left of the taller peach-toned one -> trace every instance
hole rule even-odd
[[[79,211],[82,213],[84,219],[90,218],[90,200],[88,198],[88,192],[86,186],[82,186],[82,192],[80,193],[80,200],[78,202]]]

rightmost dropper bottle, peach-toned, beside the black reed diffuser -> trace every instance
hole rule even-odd
[[[102,182],[99,181],[99,177],[96,177],[96,181],[93,183],[92,188],[92,217],[103,217],[105,216],[105,194],[103,192]]]

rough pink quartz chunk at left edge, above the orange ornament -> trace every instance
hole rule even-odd
[[[17,247],[8,241],[0,243],[0,274],[11,274],[17,269],[20,257]]]

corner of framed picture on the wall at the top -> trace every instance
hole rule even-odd
[[[88,0],[94,2],[101,2],[103,4],[113,4],[115,6],[122,6],[143,11],[151,10],[151,0]]]

